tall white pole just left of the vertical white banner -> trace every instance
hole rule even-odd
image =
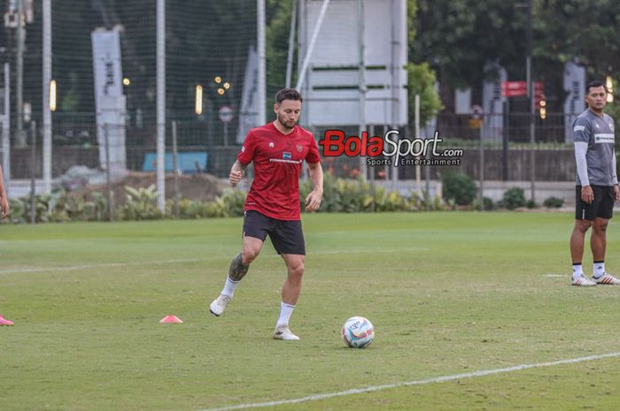
[[[51,0],[43,0],[43,193],[51,193]]]

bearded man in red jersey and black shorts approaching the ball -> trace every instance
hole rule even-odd
[[[314,188],[306,197],[306,211],[312,212],[321,206],[323,171],[312,133],[297,126],[301,112],[299,92],[293,88],[278,91],[274,111],[275,121],[250,130],[230,170],[229,180],[234,186],[253,162],[254,180],[245,199],[244,245],[230,263],[224,289],[209,309],[213,315],[221,316],[268,234],[288,271],[274,339],[290,340],[299,339],[289,329],[289,319],[301,292],[306,260],[299,212],[299,172],[306,160]]]

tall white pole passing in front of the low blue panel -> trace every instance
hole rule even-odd
[[[157,0],[157,205],[166,211],[166,0]]]

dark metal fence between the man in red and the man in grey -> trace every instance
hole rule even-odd
[[[462,150],[458,165],[430,165],[420,168],[412,166],[376,166],[368,169],[368,179],[441,179],[446,171],[461,171],[473,179],[483,178],[499,181],[564,181],[575,179],[575,161],[572,142],[566,142],[565,124],[571,118],[562,113],[547,114],[544,120],[534,119],[534,141],[531,141],[530,115],[514,113],[507,116],[486,115],[471,122],[471,116],[442,113],[433,126],[422,129],[415,136],[413,127],[400,130],[404,138],[432,138],[438,132],[443,149]],[[486,125],[486,126],[485,126]],[[390,127],[372,127],[372,135],[384,136]],[[321,137],[325,128],[316,129]],[[355,127],[345,127],[346,135],[357,135]],[[570,134],[569,134],[570,135]],[[481,162],[482,157],[482,162]],[[384,158],[384,157],[381,157]],[[411,158],[411,156],[407,156]],[[324,159],[328,171],[338,176],[360,176],[360,160],[353,157],[329,157]]]

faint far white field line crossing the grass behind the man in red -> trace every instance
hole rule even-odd
[[[390,250],[384,250],[383,253],[402,253],[405,251],[426,251],[428,248],[425,247],[407,247],[407,248],[392,248]],[[368,249],[359,249],[359,250],[345,250],[345,251],[337,251],[337,250],[327,250],[327,251],[317,251],[311,253],[311,255],[337,255],[337,254],[359,254],[359,253],[369,253],[371,250]],[[376,251],[375,251],[376,253]],[[277,257],[278,255],[261,255],[261,259],[269,258],[269,257]],[[20,274],[20,273],[28,273],[28,272],[42,272],[42,271],[73,271],[73,270],[89,270],[89,269],[97,269],[97,268],[105,268],[105,267],[129,267],[133,265],[152,265],[152,264],[174,264],[174,263],[197,263],[201,261],[215,260],[222,257],[211,257],[211,258],[179,258],[176,260],[153,260],[153,261],[139,261],[139,262],[128,262],[128,263],[86,263],[79,265],[65,265],[60,267],[28,267],[28,268],[14,268],[14,269],[6,269],[0,270],[0,275],[2,274]]]

